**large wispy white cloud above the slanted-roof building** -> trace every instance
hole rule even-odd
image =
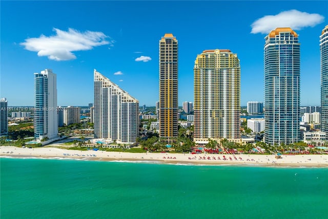
[[[40,35],[38,38],[27,38],[20,45],[26,50],[37,52],[38,56],[48,56],[55,61],[66,61],[75,59],[73,51],[91,50],[101,45],[112,45],[114,41],[102,32],[86,31],[69,28],[68,31],[53,29],[56,35]],[[106,39],[109,38],[109,41]]]

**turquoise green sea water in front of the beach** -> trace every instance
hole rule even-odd
[[[3,218],[327,218],[328,168],[0,158]]]

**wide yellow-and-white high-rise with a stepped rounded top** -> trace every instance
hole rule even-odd
[[[194,141],[240,139],[240,64],[228,49],[205,50],[194,66]]]

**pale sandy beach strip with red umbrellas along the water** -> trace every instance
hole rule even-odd
[[[328,167],[328,155],[275,155],[263,154],[181,154],[129,153],[108,151],[79,151],[60,148],[19,148],[0,146],[1,157],[70,158],[93,161],[131,161],[190,165],[251,165],[283,167]]]

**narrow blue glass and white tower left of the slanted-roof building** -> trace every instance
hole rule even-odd
[[[34,137],[57,137],[57,75],[51,69],[34,73],[34,98]]]

